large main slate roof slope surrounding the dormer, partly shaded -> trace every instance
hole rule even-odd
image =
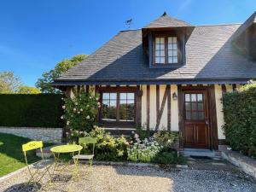
[[[256,79],[256,61],[232,47],[239,26],[195,26],[186,44],[186,64],[160,69],[148,67],[142,30],[122,31],[54,84],[246,83]]]

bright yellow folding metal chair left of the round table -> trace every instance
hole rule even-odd
[[[41,152],[41,158],[42,160],[39,160],[38,162],[32,164],[32,165],[28,165],[28,161],[27,161],[27,155],[26,153],[28,151],[32,151],[32,150],[36,150],[40,148],[40,152]],[[41,179],[44,177],[44,175],[48,172],[50,179],[52,179],[50,173],[49,173],[49,168],[51,165],[49,165],[49,163],[51,163],[49,160],[44,160],[44,153],[43,153],[43,142],[42,141],[32,141],[26,144],[22,145],[22,152],[25,156],[25,160],[26,160],[26,166],[28,169],[28,172],[30,174],[30,179],[27,182],[31,183],[39,183],[41,181]],[[32,173],[32,168],[36,169],[35,172]],[[45,170],[43,172],[39,172],[39,170],[45,168]],[[37,177],[39,177],[39,179],[37,180]]]

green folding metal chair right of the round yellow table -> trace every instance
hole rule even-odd
[[[94,158],[94,149],[96,144],[96,137],[80,137],[79,145],[85,148],[88,145],[92,145],[92,153],[91,154],[78,154],[73,156],[75,160],[89,160],[90,166],[92,165],[92,160]]]

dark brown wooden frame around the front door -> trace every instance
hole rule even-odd
[[[186,90],[202,90],[207,92],[207,111],[209,121],[209,149],[218,150],[218,125],[217,125],[217,113],[216,113],[216,102],[215,102],[215,90],[214,84],[211,85],[177,85],[177,96],[178,96],[178,126],[180,134],[180,148],[184,146],[184,102],[183,92]]]

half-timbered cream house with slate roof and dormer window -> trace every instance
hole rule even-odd
[[[225,142],[221,98],[256,79],[256,12],[243,24],[193,26],[166,13],[125,30],[53,85],[95,90],[106,127],[179,131],[180,148]]]

